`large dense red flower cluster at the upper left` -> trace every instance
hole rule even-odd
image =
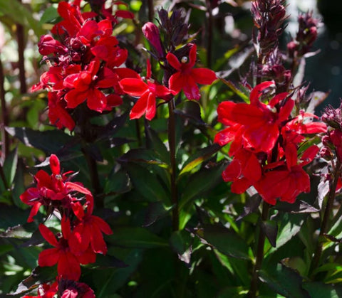
[[[86,102],[88,108],[96,112],[112,110],[122,103],[123,92],[118,82],[136,75],[121,67],[128,51],[120,48],[118,39],[113,36],[118,16],[133,15],[117,11],[113,16],[105,9],[103,1],[98,13],[81,13],[80,2],[58,4],[58,14],[63,21],[52,29],[58,39],[43,35],[38,43],[39,53],[44,55],[49,70],[31,88],[32,91],[48,90],[51,123],[71,130],[75,127],[72,109]]]

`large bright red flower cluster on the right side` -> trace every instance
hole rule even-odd
[[[294,100],[287,92],[271,95],[272,87],[272,81],[254,87],[249,104],[219,104],[218,119],[227,128],[214,142],[222,146],[231,142],[233,159],[222,177],[232,181],[232,192],[243,193],[254,186],[267,203],[274,205],[276,198],[294,203],[299,193],[310,190],[303,166],[318,152],[315,145],[301,149],[304,135],[326,132],[326,125],[313,122],[316,116],[306,112],[291,117]]]

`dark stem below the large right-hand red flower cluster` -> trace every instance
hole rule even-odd
[[[267,220],[269,218],[269,204],[265,201],[262,204],[261,220]],[[255,259],[255,264],[253,268],[251,286],[249,288],[248,297],[257,297],[258,282],[259,282],[259,270],[261,269],[262,261],[264,260],[264,245],[265,245],[266,235],[264,231],[260,228],[258,247],[257,247],[257,257]]]

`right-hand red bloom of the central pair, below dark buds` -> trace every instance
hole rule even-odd
[[[166,55],[167,62],[177,70],[171,75],[169,80],[169,88],[173,95],[176,95],[183,90],[185,96],[189,100],[199,100],[201,94],[197,84],[210,85],[216,80],[216,75],[212,70],[207,68],[193,68],[196,62],[196,45],[193,45],[188,58],[183,57],[181,61],[172,54]]]

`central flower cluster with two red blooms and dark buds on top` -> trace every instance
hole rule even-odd
[[[165,42],[162,43],[160,29],[154,23],[145,23],[142,33],[151,45],[153,57],[164,70],[163,85],[151,78],[149,61],[147,61],[145,78],[140,78],[137,74],[138,78],[120,80],[119,85],[123,92],[139,97],[130,112],[130,119],[140,118],[145,114],[146,119],[151,120],[155,117],[156,98],[167,102],[172,99],[172,95],[177,95],[181,91],[185,93],[188,100],[199,100],[201,94],[197,84],[210,85],[217,78],[212,70],[194,68],[197,57],[195,44],[187,43],[179,47],[188,28],[182,11],[172,11],[169,17],[167,11],[161,9],[159,16]]]

